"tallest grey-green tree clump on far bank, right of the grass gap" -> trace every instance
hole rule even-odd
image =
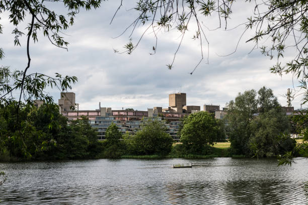
[[[269,88],[239,93],[227,105],[226,132],[237,155],[272,157],[291,151],[290,120]]]

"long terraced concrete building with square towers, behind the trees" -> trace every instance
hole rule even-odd
[[[148,119],[160,121],[166,128],[175,141],[179,141],[177,135],[180,125],[179,119],[190,113],[200,111],[200,106],[186,106],[186,93],[173,93],[169,95],[169,108],[162,107],[149,108],[147,111],[134,110],[112,110],[111,108],[101,107],[96,110],[79,109],[72,110],[76,104],[75,93],[62,92],[61,98],[58,100],[60,112],[68,118],[68,121],[81,119],[85,116],[89,119],[89,123],[93,128],[98,129],[98,139],[104,140],[107,128],[115,123],[122,134],[125,132],[135,133],[140,130],[144,121]]]

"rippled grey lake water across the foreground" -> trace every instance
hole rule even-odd
[[[0,204],[308,204],[308,161],[83,160],[0,163]],[[176,163],[198,163],[172,168]]]

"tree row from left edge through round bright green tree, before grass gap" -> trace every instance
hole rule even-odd
[[[115,124],[106,131],[106,140],[97,141],[97,131],[86,118],[67,123],[56,105],[44,104],[39,109],[17,102],[0,108],[2,160],[54,160],[84,158],[120,158],[131,155],[181,157],[210,154],[208,148],[218,138],[225,138],[213,115],[193,114],[183,121],[183,144],[173,146],[164,123],[149,119],[134,134],[119,132]],[[16,123],[20,122],[20,123]],[[198,134],[200,139],[198,139]],[[196,135],[196,136],[195,136]],[[198,145],[197,145],[198,144]]]

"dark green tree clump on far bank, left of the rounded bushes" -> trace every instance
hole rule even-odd
[[[95,157],[100,144],[87,119],[67,124],[56,105],[39,109],[17,102],[0,108],[3,159],[79,159]]]

